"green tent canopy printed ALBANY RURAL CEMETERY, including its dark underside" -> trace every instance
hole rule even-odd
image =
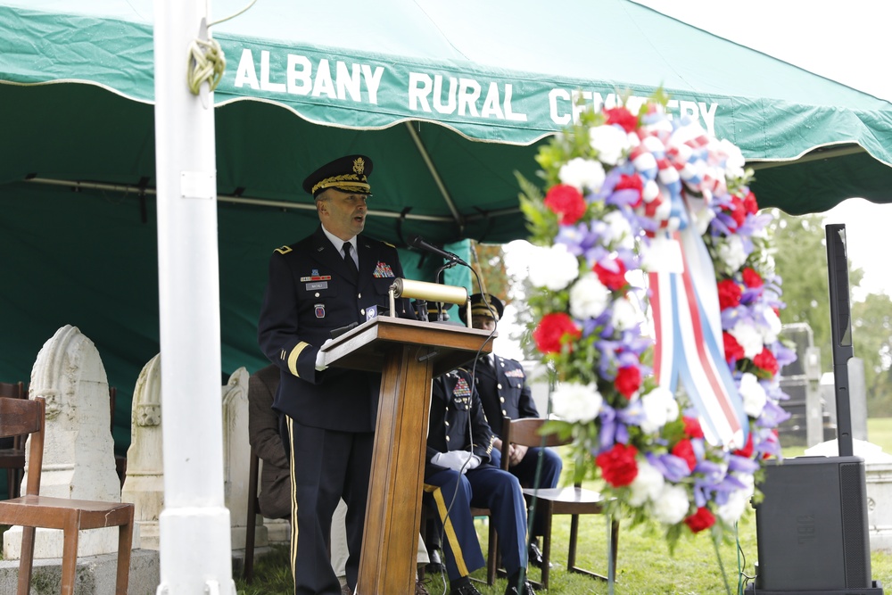
[[[158,351],[152,21],[151,0],[0,0],[4,380],[64,324],[124,395]],[[536,179],[575,97],[634,107],[663,88],[673,117],[741,148],[762,206],[889,201],[892,104],[630,0],[259,0],[211,32],[227,372],[263,365],[268,255],[318,224],[301,180],[343,154],[375,162],[370,235],[507,242],[526,235],[516,173]],[[425,280],[439,264],[404,259]]]

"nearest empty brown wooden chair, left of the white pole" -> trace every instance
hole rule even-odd
[[[0,398],[0,437],[30,434],[28,483],[25,495],[0,500],[0,525],[21,525],[18,595],[28,595],[34,562],[36,527],[62,529],[62,595],[73,595],[78,566],[78,531],[119,527],[117,595],[127,595],[130,548],[133,543],[133,504],[70,500],[39,495],[44,458],[45,402]]]

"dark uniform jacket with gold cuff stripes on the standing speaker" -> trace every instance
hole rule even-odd
[[[296,244],[277,248],[258,322],[260,349],[281,370],[273,409],[304,426],[372,432],[381,375],[316,370],[316,356],[335,328],[366,321],[366,311],[388,308],[388,290],[403,277],[396,248],[357,236],[359,277],[354,281],[322,227]],[[400,316],[415,318],[405,299]]]

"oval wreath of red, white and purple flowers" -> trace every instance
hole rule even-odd
[[[547,193],[520,183],[530,242],[540,246],[524,283],[535,357],[554,386],[545,431],[572,435],[577,478],[603,480],[614,511],[655,519],[673,547],[684,533],[731,534],[758,498],[762,464],[780,457],[777,426],[789,417],[778,370],[795,353],[778,338],[772,216],[758,212],[752,171],[737,146],[666,115],[665,99],[637,115],[582,112],[537,156]],[[739,400],[738,443],[708,440],[690,387],[671,390],[653,374],[644,317],[652,293],[633,285],[634,271],[643,279],[659,269],[671,252],[665,238],[685,225],[712,263],[707,285],[720,313],[719,364]]]

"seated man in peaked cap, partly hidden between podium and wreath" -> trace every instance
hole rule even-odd
[[[475,293],[471,296],[471,326],[492,331],[505,313],[505,306],[499,298],[491,293]],[[458,309],[458,317],[467,324],[465,309]],[[493,448],[492,464],[501,466],[501,435],[503,417],[519,419],[521,417],[540,417],[533,394],[526,384],[524,367],[516,359],[502,358],[493,353],[477,360],[476,384],[483,403],[486,420],[492,428]],[[544,448],[527,449],[525,446],[511,446],[511,460],[508,470],[516,475],[521,485],[526,488],[536,487],[536,467],[540,454],[541,475],[539,488],[553,488],[558,485],[563,463],[554,450]],[[545,516],[537,514],[533,519],[533,531],[530,532],[529,547],[530,564],[542,566],[542,552],[539,549],[539,538],[545,531]]]

